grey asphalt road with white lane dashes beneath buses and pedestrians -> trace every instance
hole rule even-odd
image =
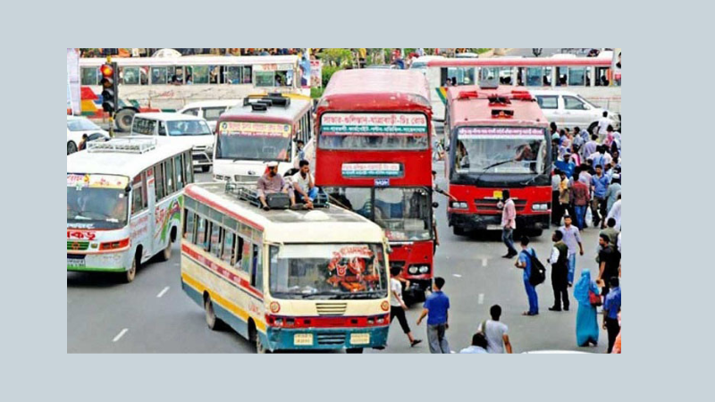
[[[435,165],[438,183],[442,163]],[[199,181],[210,180],[210,173],[197,173]],[[479,322],[489,315],[489,307],[501,305],[501,321],[509,325],[509,337],[515,353],[558,349],[604,352],[606,334],[601,331],[596,348],[576,347],[576,303],[572,297],[569,312],[547,310],[553,302],[549,280],[537,288],[540,314],[522,316],[527,306],[522,273],[515,260],[501,258],[505,247],[500,233],[480,237],[460,237],[447,226],[446,199],[437,195],[438,230],[442,246],[435,255],[435,273],[446,281],[450,297],[450,330],[452,349],[468,346]],[[598,244],[598,230],[583,233],[585,255],[576,262],[576,278],[581,268],[596,268],[593,260]],[[551,235],[544,232],[532,239],[537,255],[545,261],[551,250]],[[173,248],[168,262],[149,262],[138,272],[135,281],[122,284],[112,275],[83,272],[67,273],[67,351],[70,353],[255,353],[247,340],[232,331],[210,331],[204,312],[181,290],[179,246]],[[548,269],[548,266],[547,266]],[[416,338],[425,342],[410,348],[397,322],[391,326],[388,348],[366,353],[428,353],[425,322],[416,326],[421,306],[407,312]],[[599,315],[601,322],[601,315]],[[125,331],[126,330],[126,331]]]

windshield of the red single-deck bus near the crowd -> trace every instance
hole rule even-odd
[[[467,174],[542,174],[546,150],[543,129],[462,127],[457,131],[453,168]]]

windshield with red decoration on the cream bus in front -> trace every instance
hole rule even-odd
[[[271,296],[290,299],[387,297],[383,246],[301,244],[271,246]]]

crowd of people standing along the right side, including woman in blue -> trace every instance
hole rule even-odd
[[[549,310],[568,311],[569,289],[573,288],[573,298],[578,303],[576,345],[597,345],[597,315],[600,313],[602,328],[608,333],[608,352],[620,353],[622,152],[621,134],[610,126],[607,117],[604,112],[598,125],[588,130],[578,127],[573,131],[559,130],[555,123],[551,123],[556,166],[551,181],[551,223],[558,229],[552,233],[553,247],[547,260],[551,264],[554,298]],[[527,237],[520,240],[521,252],[514,247],[516,210],[508,190],[503,191],[503,197],[502,240],[507,246],[507,254],[503,256],[513,258],[518,255],[515,265],[524,270],[529,306],[524,315],[538,315],[535,287],[543,278],[534,278],[538,277],[536,271],[543,264],[534,248],[529,247]],[[589,226],[600,230],[596,256],[598,268],[593,277],[589,269],[582,269],[575,283],[576,259],[584,255],[581,232]]]

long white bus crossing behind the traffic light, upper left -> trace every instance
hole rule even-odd
[[[302,88],[300,59],[273,56],[177,56],[113,59],[119,67],[117,128],[128,131],[134,113],[176,112],[185,105],[215,99],[241,99],[256,92],[310,95]],[[104,58],[80,59],[81,113],[104,119]]]

